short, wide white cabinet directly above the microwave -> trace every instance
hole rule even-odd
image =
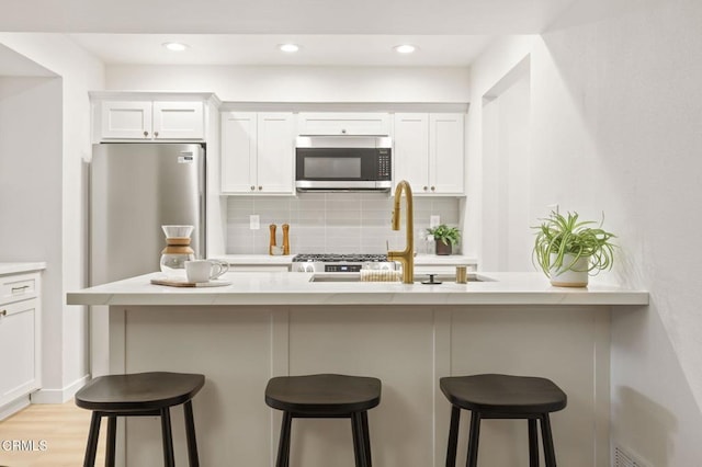
[[[390,134],[387,113],[366,112],[301,112],[297,116],[299,135],[381,135]]]

